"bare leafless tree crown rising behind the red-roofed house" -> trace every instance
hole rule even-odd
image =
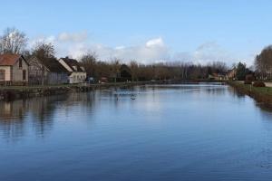
[[[21,53],[27,43],[25,33],[15,28],[6,28],[0,36],[0,53]]]

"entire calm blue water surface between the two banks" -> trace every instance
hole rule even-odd
[[[219,84],[0,102],[0,180],[270,181],[262,107]]]

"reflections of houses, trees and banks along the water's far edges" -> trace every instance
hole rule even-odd
[[[0,103],[0,133],[5,139],[24,137],[29,128],[33,128],[36,136],[44,135],[53,129],[54,120],[58,117],[69,117],[71,113],[78,113],[92,120],[95,110],[101,104],[112,105],[116,111],[126,105],[128,100],[135,100],[141,96],[147,111],[161,110],[160,97],[171,94],[194,96],[194,99],[207,99],[232,96],[238,102],[246,101],[246,95],[227,85],[221,84],[186,84],[186,85],[151,85],[110,90],[96,90],[88,93],[72,93],[50,97],[39,97],[28,100],[15,100]],[[200,96],[200,97],[199,97]],[[209,97],[208,97],[209,96]],[[105,101],[107,103],[105,103]],[[156,102],[156,103],[154,103]],[[131,105],[134,101],[131,101]],[[262,116],[272,119],[272,106],[255,103],[262,110]],[[75,110],[75,109],[79,110]],[[54,119],[55,118],[55,119]]]

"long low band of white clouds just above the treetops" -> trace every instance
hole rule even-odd
[[[136,60],[141,63],[153,62],[195,62],[206,64],[208,62],[222,61],[231,65],[238,62],[236,55],[225,51],[216,42],[200,44],[195,51],[172,53],[169,46],[161,37],[147,40],[134,46],[109,47],[101,43],[92,43],[86,32],[60,33],[58,36],[40,37],[34,41],[53,43],[58,57],[71,56],[80,58],[85,52],[95,52],[102,61],[119,58],[122,62]],[[34,43],[34,41],[32,41]]]

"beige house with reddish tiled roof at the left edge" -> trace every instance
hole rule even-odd
[[[25,85],[28,83],[28,62],[23,55],[0,55],[0,84]]]

